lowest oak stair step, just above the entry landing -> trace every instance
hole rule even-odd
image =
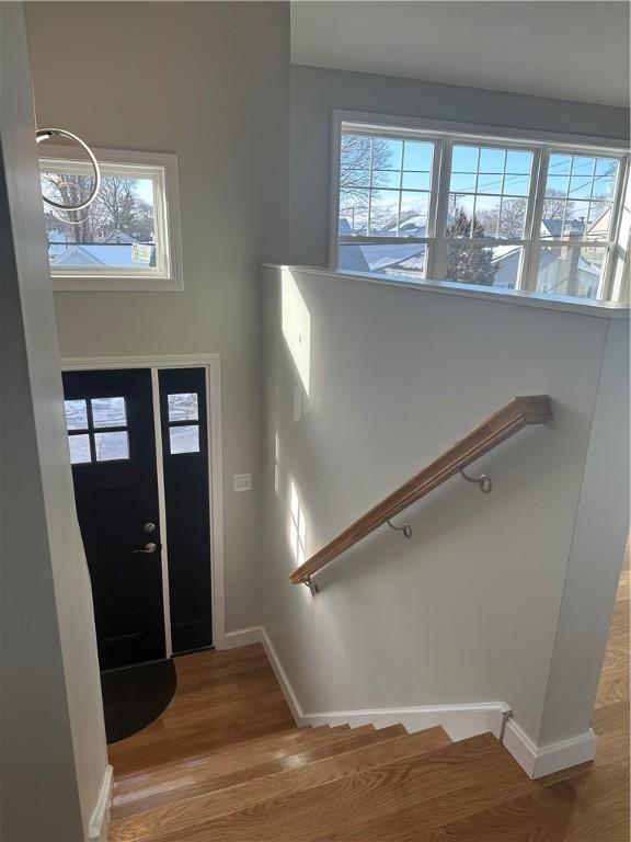
[[[140,793],[146,789],[167,790],[171,786],[177,786],[182,776],[194,777],[204,771],[210,780],[213,770],[217,770],[218,775],[239,772],[271,760],[299,753],[306,747],[317,746],[323,740],[335,743],[339,739],[355,732],[351,731],[347,725],[339,725],[334,728],[329,726],[296,728],[294,726],[286,731],[267,733],[229,747],[190,754],[186,755],[186,760],[161,763],[153,767],[145,766],[141,772],[124,773],[116,765],[113,804],[123,804],[134,797],[141,797]]]

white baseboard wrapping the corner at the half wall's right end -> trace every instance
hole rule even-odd
[[[596,735],[589,728],[569,740],[537,746],[514,720],[506,722],[504,746],[529,777],[543,777],[594,760]]]

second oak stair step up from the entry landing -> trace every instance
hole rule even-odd
[[[206,755],[204,762],[197,762],[194,767],[186,763],[169,770],[164,775],[153,773],[145,785],[137,778],[127,781],[124,789],[115,785],[112,818],[119,820],[286,769],[296,769],[404,732],[403,726],[380,731],[372,726],[353,730],[347,727],[340,730],[325,728],[323,733],[307,731],[299,735],[302,738],[299,741],[266,748],[259,758],[248,752],[240,752],[238,756],[230,752]]]

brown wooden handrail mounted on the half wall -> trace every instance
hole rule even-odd
[[[325,544],[289,577],[294,584],[309,582],[325,565],[365,538],[395,514],[415,503],[461,468],[492,451],[529,424],[543,424],[552,418],[548,395],[514,398],[472,430],[431,465],[404,482],[397,491],[362,515],[358,521]]]

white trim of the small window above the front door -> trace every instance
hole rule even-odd
[[[154,193],[154,224],[157,231],[158,266],[154,269],[83,266],[62,270],[50,268],[55,292],[181,292],[184,288],[182,268],[182,234],[180,225],[180,179],[177,157],[168,152],[139,152],[123,149],[93,149],[100,163],[114,164],[124,171],[144,170],[147,178],[163,180],[163,190]],[[73,146],[45,144],[41,147],[41,162],[85,162],[85,156]]]

